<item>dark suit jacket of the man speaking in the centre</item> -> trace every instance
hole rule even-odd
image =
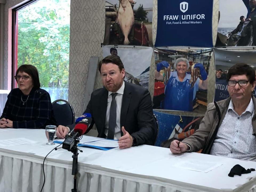
[[[91,125],[86,133],[95,123],[98,137],[105,137],[107,97],[108,91],[105,88],[97,89],[91,94],[91,99],[84,112],[90,113],[92,116]],[[125,82],[120,117],[120,127],[122,128],[122,126],[136,138],[137,145],[154,145],[157,128],[150,93],[145,88]],[[122,130],[121,136],[123,136]]]

